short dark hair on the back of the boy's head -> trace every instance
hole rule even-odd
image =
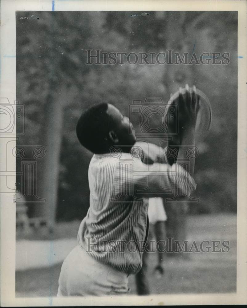
[[[107,114],[107,103],[90,107],[79,118],[76,135],[83,147],[95,154],[103,154],[109,150],[109,132],[112,119]]]

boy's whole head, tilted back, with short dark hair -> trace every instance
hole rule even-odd
[[[128,117],[107,103],[85,111],[78,120],[76,134],[80,143],[95,154],[108,153],[113,145],[123,147],[123,152],[128,152],[136,142]]]

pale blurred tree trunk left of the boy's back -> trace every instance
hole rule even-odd
[[[59,158],[63,136],[63,102],[67,99],[67,95],[66,85],[59,89],[54,98],[49,95],[43,115],[45,132],[42,139],[46,155],[38,170],[38,196],[45,198],[46,202],[35,205],[34,216],[46,219],[51,229],[56,218]]]

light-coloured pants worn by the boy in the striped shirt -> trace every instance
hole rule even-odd
[[[128,275],[100,263],[77,245],[63,261],[57,296],[128,294]]]

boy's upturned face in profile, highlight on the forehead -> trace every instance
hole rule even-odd
[[[134,145],[136,142],[136,136],[129,118],[123,116],[121,112],[111,104],[108,104],[107,114],[113,119],[113,131],[119,140],[118,144],[120,146]]]

